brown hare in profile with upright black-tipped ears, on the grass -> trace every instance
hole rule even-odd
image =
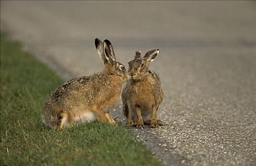
[[[62,129],[72,124],[90,122],[115,123],[110,109],[117,104],[127,75],[124,65],[115,61],[109,40],[95,39],[95,46],[105,68],[91,76],[74,78],[57,88],[45,102],[44,124]]]

